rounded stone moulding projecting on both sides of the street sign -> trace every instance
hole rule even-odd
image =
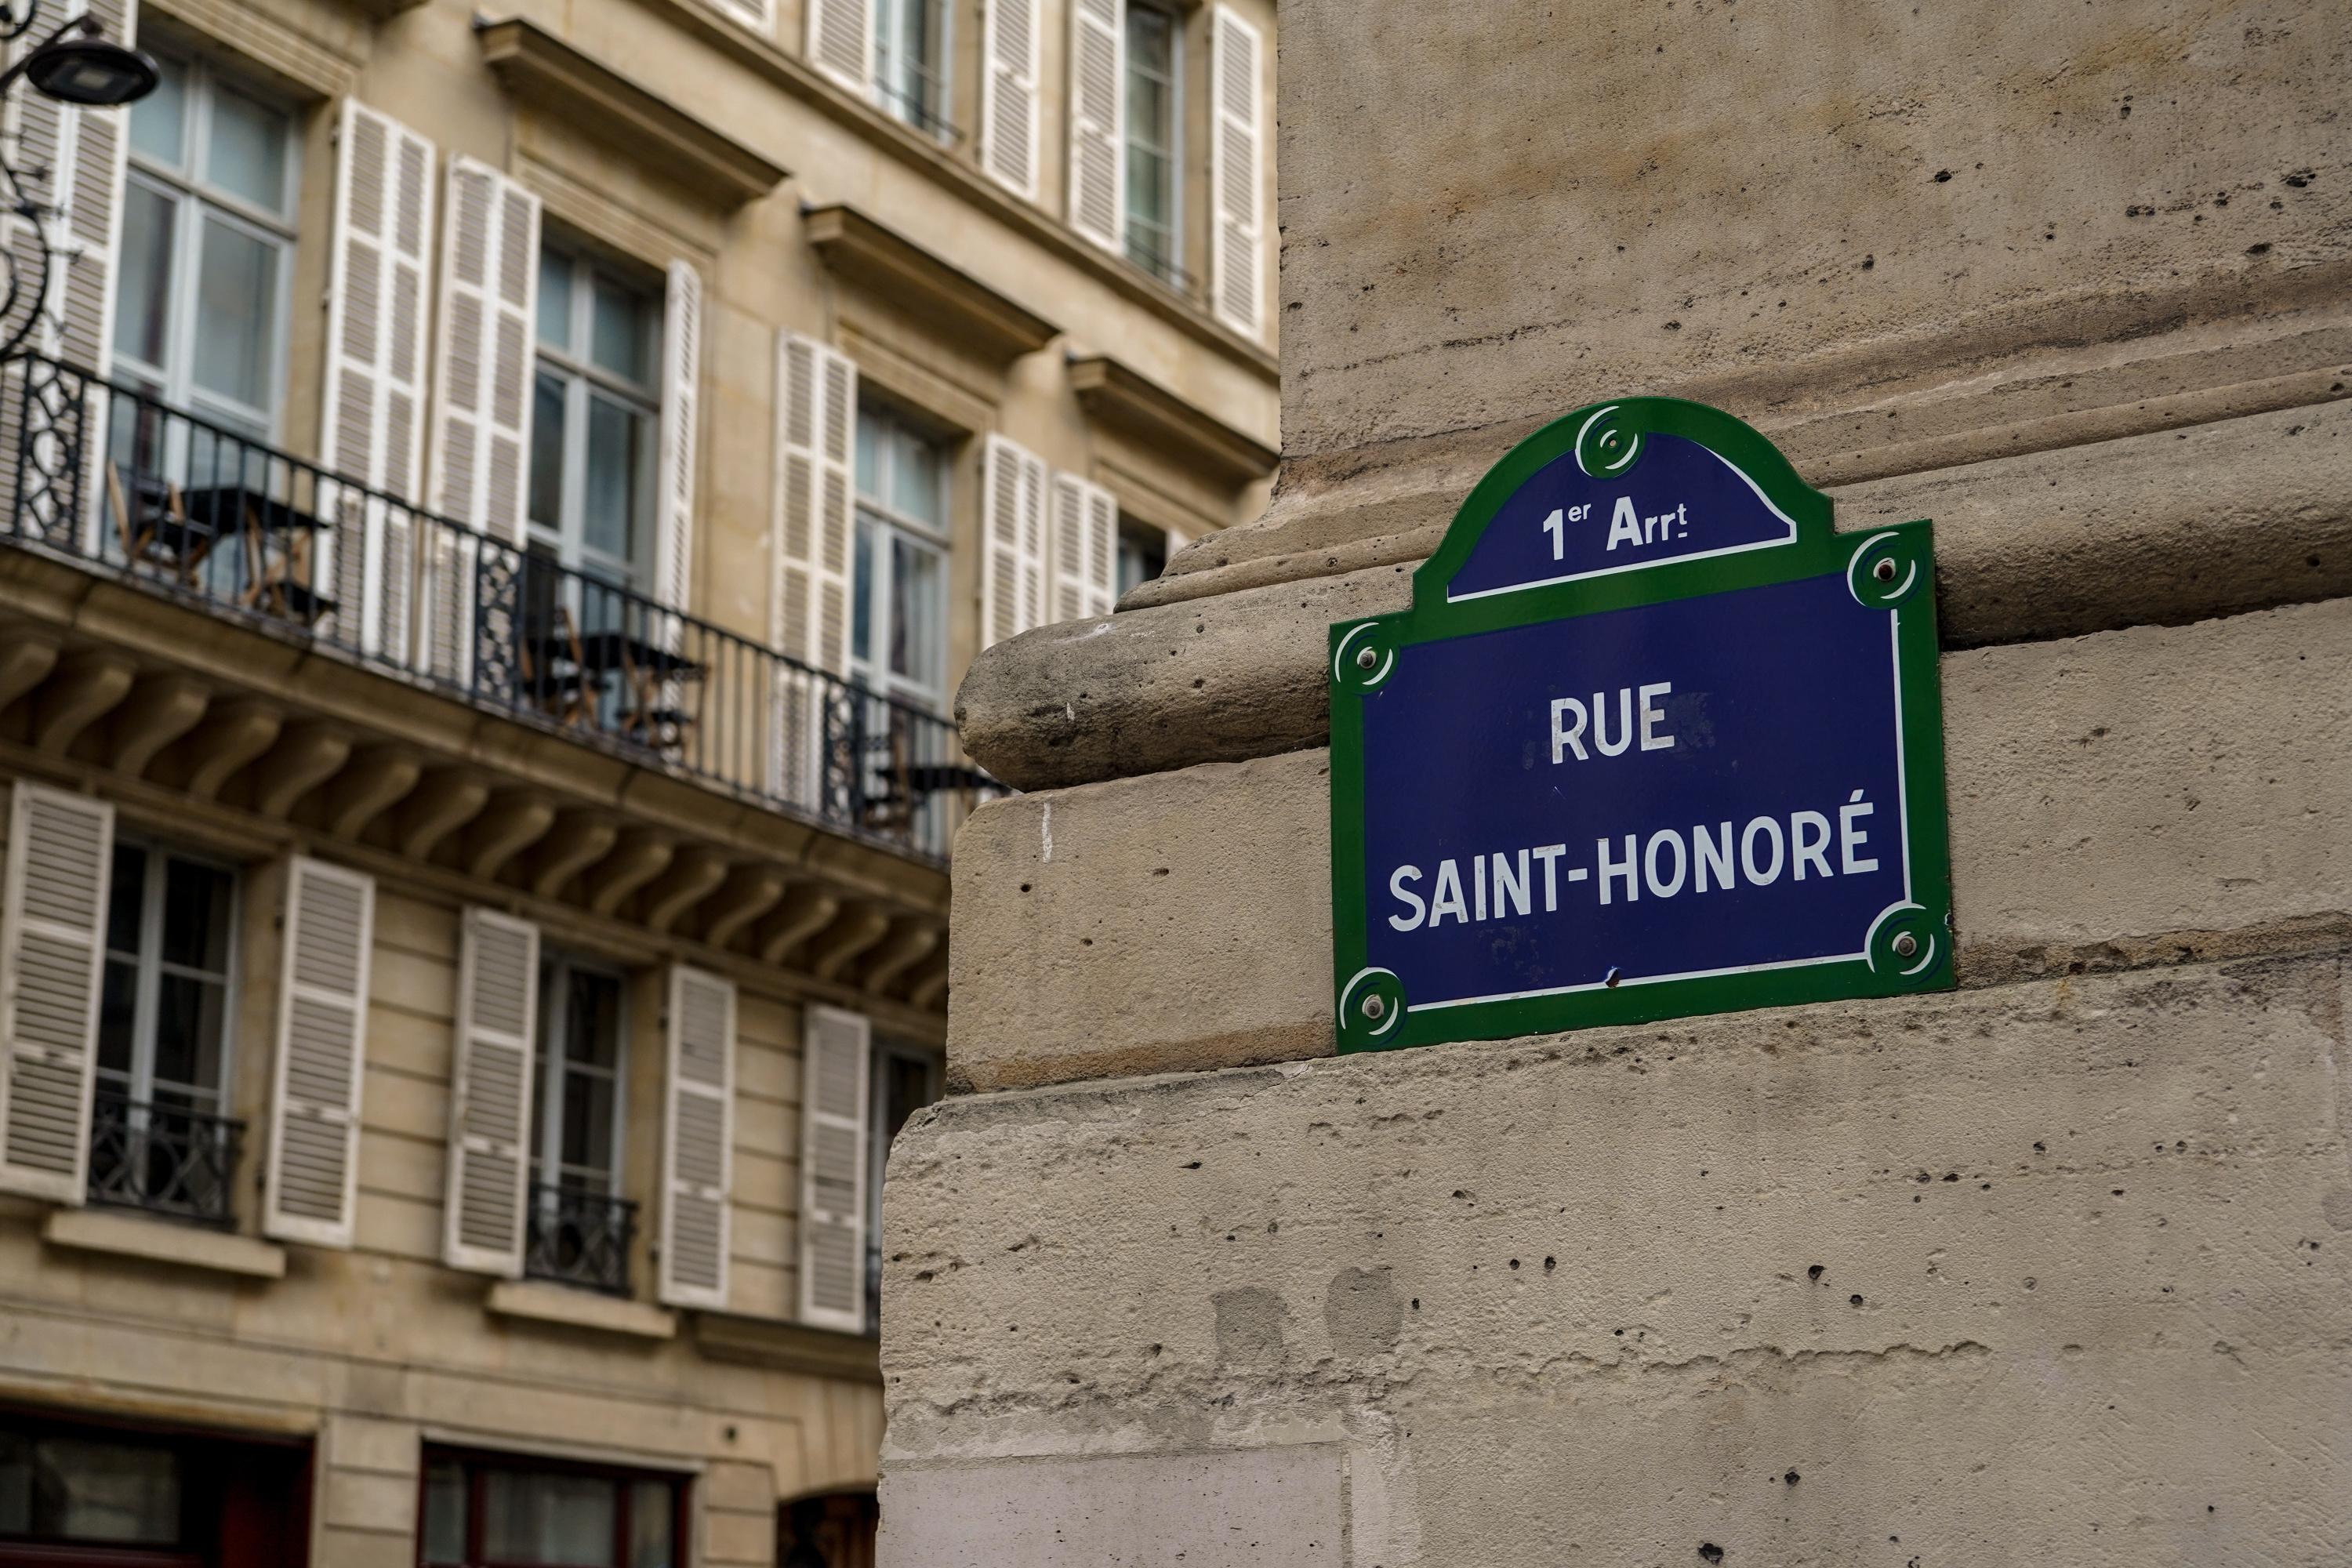
[[[1404,609],[1411,567],[1475,477],[1442,515],[1383,536],[1406,555],[1000,642],[957,693],[964,745],[1025,790],[1322,745],[1329,623]],[[2352,592],[2352,404],[2343,402],[1830,494],[1844,531],[1936,520],[1947,646]],[[1225,545],[1218,536],[1200,548]],[[1352,562],[1343,550],[1319,559]]]

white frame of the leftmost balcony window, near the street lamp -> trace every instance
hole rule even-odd
[[[132,381],[136,386],[155,388],[160,402],[174,409],[188,409],[200,418],[228,425],[230,430],[252,430],[256,440],[278,444],[280,425],[287,411],[287,360],[289,343],[287,331],[292,329],[292,299],[294,299],[294,242],[296,242],[296,219],[301,200],[301,115],[280,94],[268,92],[252,78],[238,75],[233,71],[219,71],[202,54],[193,49],[174,49],[169,45],[153,45],[141,40],[141,45],[162,61],[169,61],[181,71],[186,82],[186,118],[181,120],[181,153],[183,167],[167,169],[139,150],[132,141],[129,118],[125,113],[122,143],[127,146],[127,169],[125,186],[146,186],[158,195],[165,195],[174,205],[172,216],[172,273],[167,287],[172,292],[165,306],[165,360],[162,364],[148,364],[122,353],[115,346],[120,336],[115,324],[122,320],[127,308],[127,289],[122,287],[120,268],[122,259],[115,256],[118,280],[115,280],[115,320],[106,324],[106,355],[115,367],[115,376]],[[245,197],[221,190],[219,186],[202,179],[207,174],[207,160],[212,155],[212,94],[216,85],[233,87],[240,96],[266,103],[285,115],[285,200],[282,212],[266,212],[254,207]],[[129,190],[122,197],[125,216],[129,212]],[[198,306],[198,275],[200,275],[200,247],[205,235],[205,219],[221,219],[228,228],[235,228],[278,252],[278,299],[270,303],[270,407],[252,409],[242,407],[219,393],[205,393],[195,386],[195,306]],[[120,223],[118,223],[120,230]],[[120,244],[120,233],[118,233]],[[183,447],[188,433],[174,421],[174,444]],[[172,473],[186,463],[186,451],[167,451],[165,463]]]

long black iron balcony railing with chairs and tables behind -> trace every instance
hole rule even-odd
[[[0,364],[0,538],[946,860],[946,719],[59,360]]]

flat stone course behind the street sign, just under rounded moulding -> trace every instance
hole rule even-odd
[[[1962,978],[2340,940],[2352,599],[1947,654]],[[983,806],[957,839],[969,1088],[1331,1051],[1329,757]],[[985,938],[985,940],[983,940]]]

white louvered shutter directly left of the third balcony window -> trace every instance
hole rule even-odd
[[[849,675],[849,541],[856,527],[849,451],[858,367],[826,343],[776,334],[776,583],[769,642],[786,658]],[[816,802],[821,682],[776,665],[769,701],[769,792]]]

